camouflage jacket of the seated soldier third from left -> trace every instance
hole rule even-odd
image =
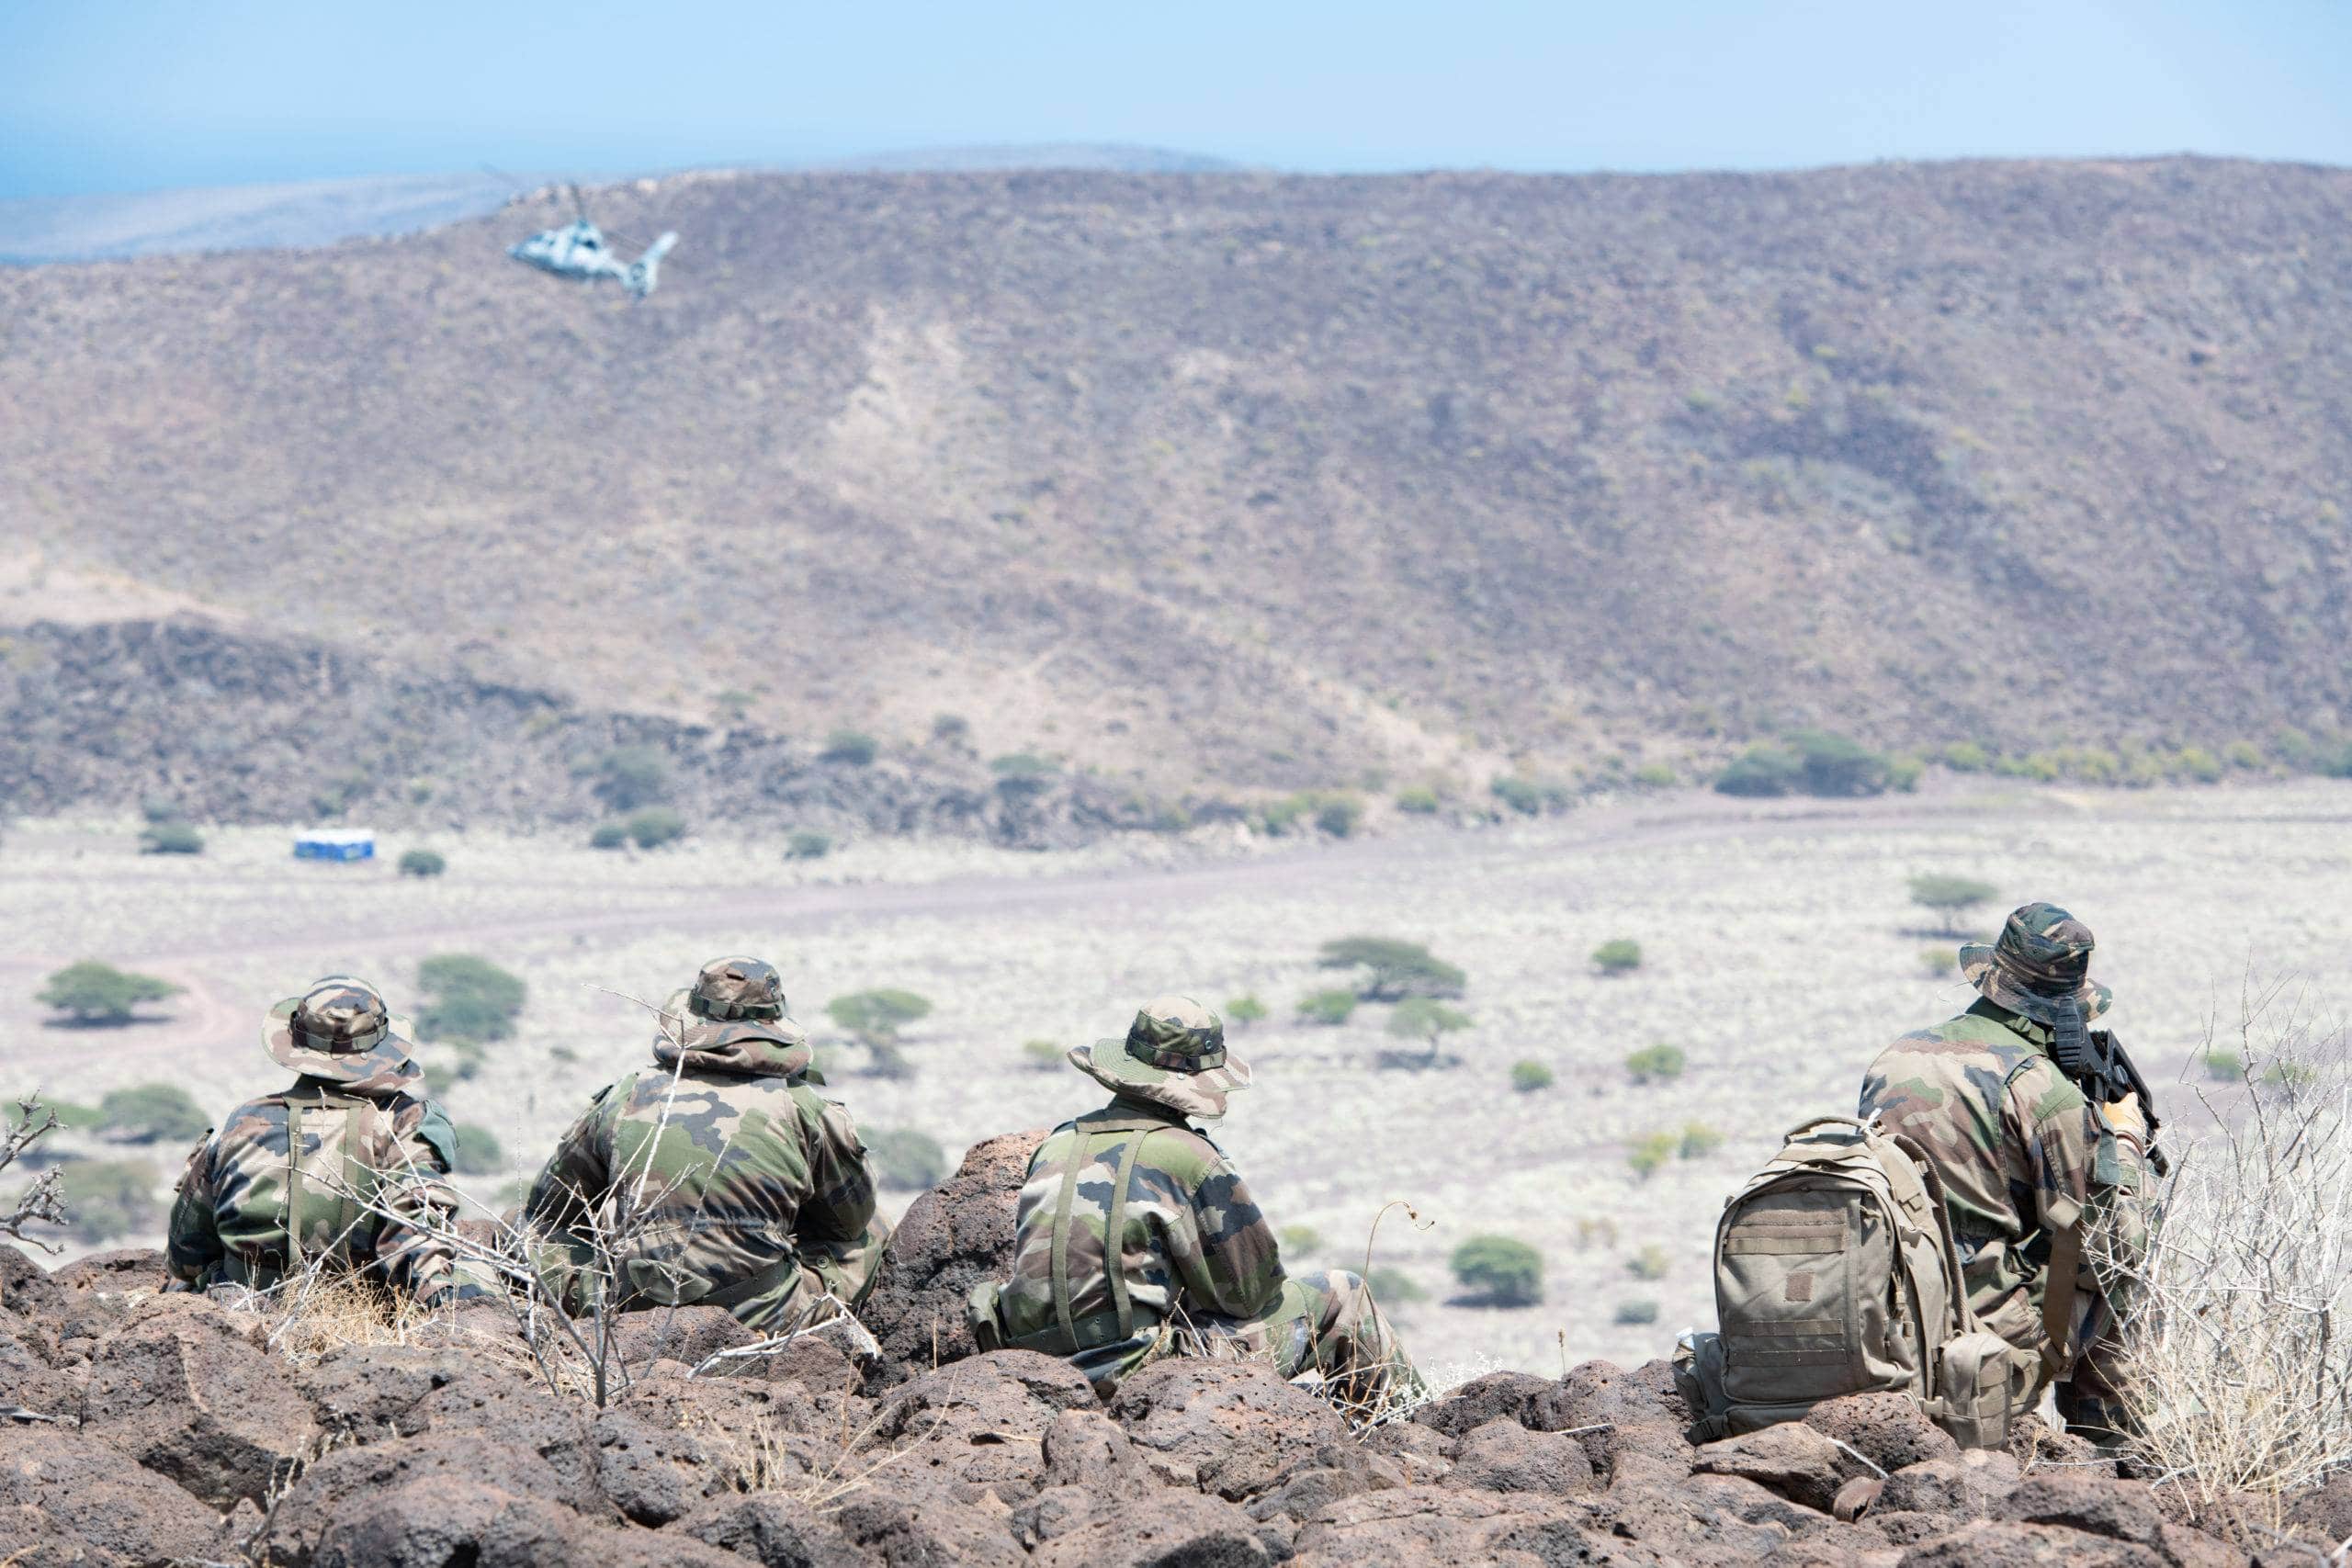
[[[1054,1128],[1030,1159],[1016,1225],[1011,1281],[997,1298],[1007,1342],[1065,1354],[1098,1385],[1143,1363],[1171,1321],[1216,1328],[1282,1298],[1282,1255],[1249,1187],[1223,1150],[1164,1105],[1120,1095]],[[1058,1260],[1056,1232],[1065,1232]]]

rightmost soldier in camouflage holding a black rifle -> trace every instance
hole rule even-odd
[[[1912,1138],[1943,1178],[1969,1305],[2034,1368],[2023,1408],[2072,1375],[2060,1410],[2112,1432],[2119,1281],[2096,1260],[2145,1246],[2147,1128],[2133,1098],[2093,1105],[2053,1060],[2060,1030],[2107,1011],[2091,950],[2091,931],[2049,903],[2016,910],[1994,945],[1964,945],[1978,1001],[1882,1051],[1860,1114]]]

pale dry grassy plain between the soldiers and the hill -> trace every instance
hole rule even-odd
[[[2114,1025],[2180,1124],[2194,1119],[2206,1030],[2234,1027],[2249,973],[2284,978],[2321,1020],[2352,1001],[2340,783],[1945,780],[1853,804],[1621,799],[1352,842],[1228,827],[1070,853],[870,842],[816,863],[727,832],[654,853],[442,832],[388,839],[372,865],[294,863],[289,830],[216,830],[200,858],[139,856],[134,839],[127,820],[35,820],[0,844],[0,1088],[94,1103],[169,1079],[219,1117],[282,1079],[259,1044],[273,999],[353,971],[409,1011],[421,957],[475,952],[529,980],[517,1034],[449,1095],[459,1121],[506,1147],[510,1171],[466,1182],[485,1204],[536,1168],[597,1086],[644,1060],[649,1018],[595,987],[659,999],[710,954],[776,959],[818,1039],[842,992],[934,999],[908,1034],[910,1079],[861,1072],[844,1044],[830,1093],[863,1126],[929,1131],[950,1159],[1098,1100],[1075,1072],[1035,1067],[1023,1041],[1120,1032],[1155,992],[1256,994],[1272,1016],[1232,1039],[1258,1081],[1216,1135],[1275,1225],[1322,1237],[1294,1267],[1362,1267],[1383,1204],[1416,1206],[1428,1229],[1392,1213],[1374,1262],[1428,1293],[1397,1316],[1449,1382],[1557,1368],[1562,1354],[1639,1361],[1712,1319],[1705,1260],[1724,1194],[1792,1121],[1851,1112],[1877,1046],[1969,999],[1922,957],[1952,943],[1924,936],[1905,898],[1915,872],[1983,877],[2004,907],[2053,898],[2089,919]],[[447,853],[445,877],[393,875],[416,842]],[[1997,919],[1987,907],[1976,924]],[[1456,1065],[1383,1067],[1385,1009],[1345,1027],[1291,1020],[1296,997],[1331,980],[1315,947],[1348,933],[1421,940],[1468,969],[1475,1027],[1449,1041]],[[1637,973],[1595,971],[1588,954],[1609,938],[1642,943]],[[80,957],[186,992],[129,1027],[54,1027],[31,992]],[[1689,1067],[1637,1086],[1623,1058],[1656,1041]],[[1522,1058],[1555,1084],[1515,1093]],[[1719,1147],[1637,1178],[1635,1140],[1686,1124],[1719,1131]],[[169,1178],[181,1150],[148,1154]],[[898,1211],[913,1194],[887,1201]],[[1449,1302],[1446,1255],[1479,1232],[1541,1248],[1541,1305]],[[1644,1248],[1663,1253],[1663,1276],[1635,1276]],[[1621,1324],[1628,1302],[1656,1302],[1656,1321]]]

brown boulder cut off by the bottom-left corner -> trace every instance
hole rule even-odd
[[[0,1559],[42,1561],[64,1537],[99,1561],[235,1556],[219,1512],[80,1432],[0,1425]],[[75,1561],[73,1552],[49,1561]]]

